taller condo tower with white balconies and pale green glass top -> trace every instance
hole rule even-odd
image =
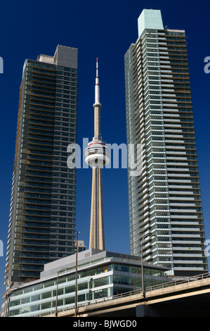
[[[205,273],[185,31],[164,28],[160,11],[143,10],[124,65],[127,144],[141,146],[139,173],[128,170],[131,254],[171,275]]]

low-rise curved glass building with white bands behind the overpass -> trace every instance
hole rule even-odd
[[[73,308],[76,254],[47,263],[39,280],[19,285],[6,297],[4,316],[41,316]],[[145,287],[166,282],[166,268],[144,265]],[[77,304],[141,288],[139,256],[88,249],[77,258]],[[57,296],[58,291],[58,296]]]

